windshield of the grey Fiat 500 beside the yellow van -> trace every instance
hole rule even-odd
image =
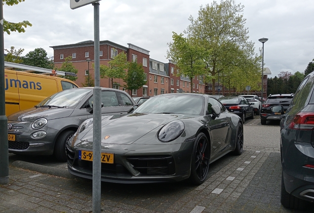
[[[90,89],[69,89],[56,93],[41,101],[37,107],[72,107],[76,106]]]

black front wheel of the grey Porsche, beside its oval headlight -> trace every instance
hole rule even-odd
[[[205,181],[209,168],[209,143],[204,133],[196,137],[191,163],[190,180],[194,184],[201,184]]]

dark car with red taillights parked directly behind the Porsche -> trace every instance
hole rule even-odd
[[[244,123],[246,118],[254,118],[254,104],[250,104],[244,97],[227,96],[220,98],[219,101],[226,106],[226,108],[242,119]]]

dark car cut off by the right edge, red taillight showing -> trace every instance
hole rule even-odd
[[[304,78],[281,117],[281,204],[304,209],[314,202],[314,72]]]

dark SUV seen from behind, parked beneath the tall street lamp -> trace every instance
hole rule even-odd
[[[294,94],[276,94],[269,95],[261,109],[261,124],[265,125],[268,120],[280,120],[281,114],[284,114],[289,107]],[[274,112],[273,106],[283,106],[283,112]]]

